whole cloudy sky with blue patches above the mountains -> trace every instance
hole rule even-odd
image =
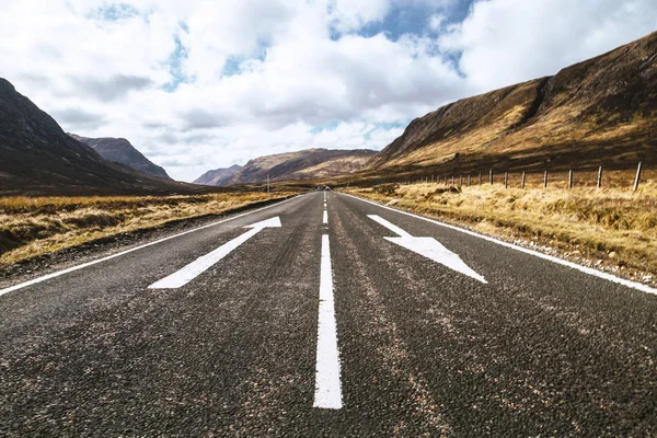
[[[0,77],[181,181],[380,150],[443,104],[657,30],[655,0],[0,0]]]

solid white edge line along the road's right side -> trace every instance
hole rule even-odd
[[[623,285],[623,286],[632,288],[632,289],[641,290],[642,292],[657,295],[657,289],[652,288],[652,287],[649,287],[647,285],[642,285],[641,283],[636,283],[636,281],[632,281],[632,280],[626,280],[624,278],[616,277],[615,275],[608,274],[608,273],[604,273],[602,270],[593,269],[593,268],[590,268],[590,267],[587,267],[587,266],[581,266],[581,265],[578,265],[576,263],[568,262],[568,261],[565,261],[563,258],[555,257],[553,255],[548,255],[548,254],[540,253],[538,251],[528,250],[526,247],[518,246],[518,245],[515,245],[512,243],[508,243],[508,242],[505,242],[505,241],[502,241],[502,240],[497,240],[495,238],[491,238],[488,235],[480,234],[480,233],[474,232],[474,231],[470,231],[470,230],[465,230],[463,228],[459,228],[459,227],[456,227],[456,226],[443,223],[443,222],[440,222],[440,221],[435,220],[435,219],[425,218],[425,217],[422,217],[422,216],[418,216],[418,215],[414,215],[414,214],[408,212],[408,211],[397,210],[396,208],[388,207],[388,206],[374,203],[373,200],[359,198],[358,196],[349,195],[349,194],[346,194],[346,193],[343,193],[343,195],[351,197],[354,199],[358,199],[358,200],[360,200],[362,203],[368,203],[368,204],[376,205],[377,207],[381,207],[381,208],[384,208],[387,210],[399,212],[401,215],[406,215],[406,216],[411,216],[412,218],[422,219],[424,221],[431,222],[431,223],[437,224],[439,227],[448,228],[450,230],[459,231],[459,232],[465,233],[468,235],[472,235],[472,237],[475,237],[475,238],[480,238],[480,239],[486,240],[488,242],[497,243],[498,245],[506,246],[506,247],[509,247],[511,250],[520,251],[521,253],[525,253],[525,254],[530,254],[530,255],[537,256],[539,258],[543,258],[543,260],[546,260],[546,261],[550,261],[550,262],[553,262],[553,263],[556,263],[556,264],[560,264],[560,265],[563,265],[563,266],[570,267],[573,269],[577,269],[577,270],[579,270],[581,273],[585,273],[585,274],[588,274],[588,275],[592,275],[593,277],[602,278],[602,279],[606,279],[606,280],[609,280],[609,281],[612,281],[612,283],[616,283],[619,285]]]

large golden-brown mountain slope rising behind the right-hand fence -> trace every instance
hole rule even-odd
[[[657,33],[416,118],[366,173],[657,163]]]

